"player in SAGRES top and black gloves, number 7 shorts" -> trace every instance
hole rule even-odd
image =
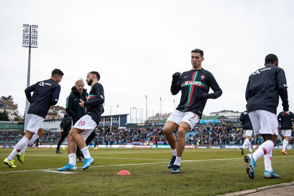
[[[174,73],[171,84],[173,95],[182,92],[181,101],[175,111],[168,117],[163,132],[171,146],[173,157],[168,168],[171,173],[180,172],[180,162],[185,148],[185,134],[194,128],[202,116],[207,99],[216,99],[221,96],[222,90],[213,75],[202,68],[203,51],[191,51],[192,69],[182,74]],[[209,93],[209,89],[214,93]],[[178,140],[173,131],[178,128]]]

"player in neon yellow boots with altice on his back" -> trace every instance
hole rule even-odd
[[[54,69],[49,80],[37,82],[24,90],[26,98],[30,102],[28,110],[29,123],[26,127],[24,137],[15,145],[10,155],[4,159],[4,163],[9,167],[14,165],[14,157],[24,163],[24,152],[35,140],[43,135],[43,121],[51,105],[55,105],[59,100],[60,85],[58,84],[63,76],[63,72]],[[33,93],[33,96],[31,95]]]

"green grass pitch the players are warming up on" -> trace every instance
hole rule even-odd
[[[90,149],[90,148],[89,148]],[[0,150],[1,162],[12,148]],[[239,149],[185,149],[179,174],[167,168],[170,149],[90,149],[95,164],[58,173],[68,162],[67,150],[29,148],[16,168],[0,165],[0,195],[218,195],[294,181],[294,150],[273,150],[272,165],[279,179],[264,179],[260,158],[249,179]],[[248,150],[245,150],[248,153]],[[120,170],[131,175],[118,176]],[[46,171],[44,171],[46,170]]]

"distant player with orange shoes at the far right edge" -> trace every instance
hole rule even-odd
[[[284,115],[283,112],[280,112],[277,118],[278,118],[278,122],[281,123],[281,130],[284,136],[282,153],[284,155],[288,155],[286,153],[286,148],[288,146],[291,133],[293,130],[292,119],[294,120],[294,114],[292,112],[289,112],[288,114]]]

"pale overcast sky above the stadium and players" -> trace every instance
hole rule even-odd
[[[1,0],[0,96],[12,95],[24,111],[29,49],[22,47],[22,29],[23,24],[36,24],[38,48],[31,50],[30,84],[61,69],[57,105],[65,107],[78,78],[98,71],[105,103],[119,104],[112,114],[146,108],[145,95],[149,116],[152,110],[160,112],[160,97],[162,113],[171,112],[173,99],[177,106],[181,97],[181,92],[171,95],[172,75],[190,70],[190,51],[200,48],[202,67],[223,90],[220,98],[207,101],[204,114],[245,110],[248,77],[264,66],[269,53],[278,56],[286,73],[292,110],[293,7],[294,1]],[[90,86],[86,88],[89,92]],[[278,111],[282,109],[280,101]],[[105,107],[103,115],[109,114],[110,107]],[[133,118],[135,122],[136,110]]]

